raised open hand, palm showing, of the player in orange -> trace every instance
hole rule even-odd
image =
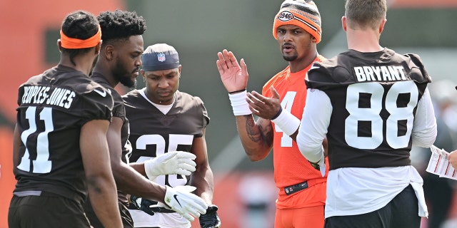
[[[246,89],[248,85],[248,68],[244,63],[244,59],[241,58],[238,64],[235,55],[226,49],[217,53],[217,56],[219,59],[216,61],[216,66],[227,92]]]

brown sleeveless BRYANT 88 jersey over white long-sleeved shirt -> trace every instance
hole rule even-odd
[[[419,56],[386,48],[346,51],[314,63],[306,86],[322,90],[333,110],[330,169],[411,165],[411,130],[418,100],[431,82]]]

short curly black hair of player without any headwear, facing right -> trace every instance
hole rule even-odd
[[[110,41],[129,39],[130,36],[143,35],[146,31],[146,21],[135,11],[104,11],[97,19],[101,27],[102,45]]]

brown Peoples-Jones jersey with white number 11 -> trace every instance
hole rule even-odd
[[[59,65],[22,84],[18,105],[21,144],[14,192],[52,192],[82,203],[87,186],[81,126],[111,120],[111,95],[81,71]]]

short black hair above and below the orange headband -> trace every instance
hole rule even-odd
[[[86,11],[74,11],[68,14],[62,22],[62,32],[69,38],[78,38],[85,40],[94,36],[99,31],[99,21],[96,17]],[[91,47],[93,48],[93,47]],[[68,53],[71,63],[74,63],[74,57],[81,53],[87,53],[91,48],[69,49],[61,48],[62,53]]]

